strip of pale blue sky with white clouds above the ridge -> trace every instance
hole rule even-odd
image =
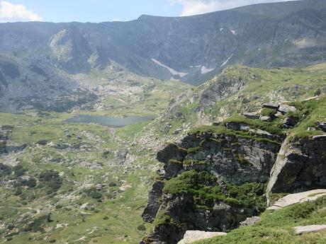
[[[0,22],[130,21],[142,14],[191,16],[277,1],[282,0],[0,0]]]

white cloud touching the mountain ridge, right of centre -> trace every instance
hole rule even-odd
[[[278,2],[285,0],[170,0],[183,6],[181,16],[193,16],[201,13],[236,8],[249,4],[261,4],[266,2]],[[293,0],[288,0],[293,1]]]

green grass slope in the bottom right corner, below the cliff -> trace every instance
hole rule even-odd
[[[253,226],[237,228],[227,236],[201,240],[196,244],[306,244],[326,243],[326,231],[296,236],[293,227],[325,224],[326,197],[315,202],[295,204],[270,213],[265,211],[262,220]]]

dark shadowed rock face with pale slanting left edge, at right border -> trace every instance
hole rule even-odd
[[[286,139],[271,170],[267,192],[326,187],[326,136]]]

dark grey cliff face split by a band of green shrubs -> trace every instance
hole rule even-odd
[[[240,125],[233,125],[241,129]],[[208,132],[189,134],[179,144],[170,144],[159,151],[157,159],[164,163],[165,174],[154,183],[142,217],[145,221],[165,219],[160,223],[155,220],[152,234],[142,243],[175,244],[187,230],[227,231],[240,226],[247,217],[259,214],[254,204],[241,206],[211,199],[202,203],[207,207],[198,207],[195,194],[164,192],[167,185],[164,182],[186,172],[205,173],[207,176],[194,181],[208,188],[218,186],[222,192],[229,191],[227,184],[267,182],[281,146],[278,141],[259,138]],[[196,174],[193,177],[197,177]]]

